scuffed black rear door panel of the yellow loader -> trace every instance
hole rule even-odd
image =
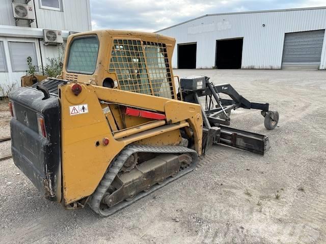
[[[56,88],[58,90],[58,88]],[[58,96],[20,87],[8,95],[16,118],[10,121],[11,150],[15,165],[46,198],[61,201],[60,106]],[[42,115],[47,137],[39,133]]]

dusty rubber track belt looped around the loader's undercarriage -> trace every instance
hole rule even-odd
[[[112,207],[108,207],[105,209],[100,208],[101,200],[106,193],[107,189],[112,184],[114,178],[119,173],[120,169],[124,165],[125,161],[128,159],[130,155],[133,153],[160,153],[160,154],[191,154],[193,160],[189,167],[180,171],[175,177],[167,178],[162,184],[155,184],[151,187],[148,192],[141,192],[137,194],[131,201],[122,201]],[[96,188],[95,192],[92,194],[90,201],[88,204],[91,208],[99,214],[101,217],[110,216],[114,214],[116,211],[132,204],[133,202],[149,195],[155,190],[167,185],[171,181],[181,177],[182,175],[191,172],[195,169],[196,163],[198,161],[198,154],[195,150],[189,149],[183,146],[147,146],[147,145],[128,145],[125,147],[121,153],[116,157],[114,162],[111,163],[111,166],[108,168],[106,173],[104,174],[100,184]]]

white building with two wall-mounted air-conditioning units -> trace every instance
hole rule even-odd
[[[43,29],[55,31],[63,43],[44,45]],[[20,77],[28,70],[27,57],[32,57],[33,65],[43,66],[47,57],[58,56],[69,32],[90,30],[89,0],[1,0],[0,97],[20,86]],[[51,39],[53,32],[48,34]]]

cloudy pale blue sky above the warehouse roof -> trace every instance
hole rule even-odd
[[[326,6],[325,0],[90,0],[92,29],[154,32],[205,14]]]

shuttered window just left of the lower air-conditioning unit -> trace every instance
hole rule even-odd
[[[32,65],[38,71],[37,55],[34,42],[8,42],[11,68],[13,72],[26,72],[29,70],[27,58],[32,58]]]

